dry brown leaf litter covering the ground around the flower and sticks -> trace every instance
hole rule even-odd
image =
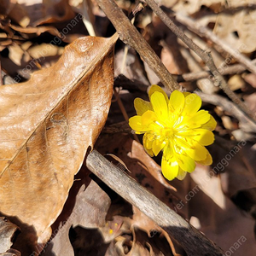
[[[17,2],[15,8],[10,5],[0,14],[2,68],[16,78],[14,82],[25,81],[0,87],[0,216],[5,216],[11,227],[0,229],[4,246],[0,253],[187,255],[178,241],[86,170],[84,155],[87,148],[95,147],[123,172],[128,168],[131,177],[216,242],[225,255],[255,254],[253,132],[243,130],[231,110],[206,102],[204,108],[218,120],[216,143],[209,147],[213,164],[210,168],[198,165],[183,181],[168,183],[160,172],[160,157],[150,158],[143,146],[132,140],[118,103],[113,100],[110,107],[115,40],[106,38],[112,34],[109,21],[92,2],[95,26],[105,38],[81,38],[87,34],[82,19],[65,37],[61,36],[65,25],[78,15],[77,3],[49,3],[47,14],[40,15],[43,6],[36,13],[32,1],[26,5]],[[235,2],[160,1],[166,9],[192,15],[231,47],[253,58],[255,10],[250,9],[250,1]],[[128,12],[134,7],[130,1],[118,3]],[[22,10],[23,19],[15,16],[17,8]],[[238,23],[233,26],[230,19]],[[171,73],[205,70],[204,64],[172,38],[172,32],[148,9],[137,20],[137,27]],[[227,24],[232,26],[223,26]],[[212,50],[220,67],[236,63],[208,39],[190,36]],[[55,50],[49,51],[56,37],[61,40],[55,39]],[[37,51],[41,55],[36,55]],[[124,45],[118,43],[114,86],[119,87],[119,99],[131,116],[135,113],[133,99],[139,96],[148,100],[148,85],[160,80],[133,49],[126,57],[123,53]],[[36,65],[26,70],[31,61]],[[256,93],[253,75],[244,71],[236,78],[231,74],[225,77],[251,109],[255,107]],[[200,81],[207,85],[201,86]],[[200,79],[183,86],[189,91],[200,87],[204,92],[223,96],[214,87],[209,90],[207,86],[213,86],[210,82]],[[234,151],[245,137],[249,141]],[[216,171],[213,176],[212,170]]]

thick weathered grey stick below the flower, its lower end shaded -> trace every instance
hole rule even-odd
[[[154,220],[163,230],[166,230],[168,235],[176,239],[189,256],[224,255],[224,252],[210,241],[207,236],[196,230],[96,150],[92,150],[87,156],[86,166],[90,172],[93,172],[108,187],[137,207],[148,218]]]

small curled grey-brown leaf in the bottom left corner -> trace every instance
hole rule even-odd
[[[7,218],[0,218],[0,253],[5,253],[12,246],[12,237],[18,227],[12,224]]]

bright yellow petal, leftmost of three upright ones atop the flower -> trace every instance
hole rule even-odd
[[[157,117],[161,121],[166,121],[168,119],[168,108],[165,96],[159,91],[155,91],[150,97],[150,101]]]

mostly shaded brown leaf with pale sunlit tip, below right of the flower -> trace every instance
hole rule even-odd
[[[209,177],[209,169],[209,166],[197,166],[191,173],[191,188],[183,204],[189,205],[190,216],[199,219],[201,231],[216,242],[225,255],[255,255],[253,219],[224,195],[219,177]]]

